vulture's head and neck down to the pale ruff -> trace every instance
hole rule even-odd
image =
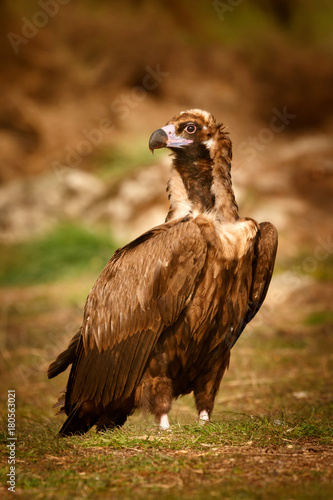
[[[237,217],[230,177],[231,141],[210,113],[182,111],[153,132],[149,148],[152,152],[169,148],[174,156],[166,220],[210,211],[225,220]]]

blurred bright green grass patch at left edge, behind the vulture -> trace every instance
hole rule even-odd
[[[42,238],[0,246],[0,285],[31,285],[99,273],[117,245],[109,234],[62,224]]]

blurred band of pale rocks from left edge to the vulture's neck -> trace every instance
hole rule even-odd
[[[16,243],[64,221],[103,224],[119,241],[164,222],[168,161],[116,184],[78,169],[17,180],[0,188],[0,240]]]

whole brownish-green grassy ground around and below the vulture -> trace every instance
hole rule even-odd
[[[56,438],[63,417],[52,405],[67,374],[48,381],[46,369],[79,326],[95,271],[0,289],[2,498],[11,494],[8,390],[16,391],[20,498],[332,497],[333,339],[326,306],[284,304],[269,328],[260,324],[243,334],[210,425],[197,424],[189,396],[175,402],[171,432],[159,433],[149,415],[136,413],[113,433]],[[297,320],[289,324],[291,310]]]

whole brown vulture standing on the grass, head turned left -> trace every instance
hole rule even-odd
[[[238,215],[232,144],[200,109],[149,139],[171,151],[165,222],[120,248],[90,291],[82,326],[48,369],[71,365],[60,436],[124,424],[138,407],[169,428],[173,399],[193,392],[210,421],[230,351],[263,303],[277,231]]]

